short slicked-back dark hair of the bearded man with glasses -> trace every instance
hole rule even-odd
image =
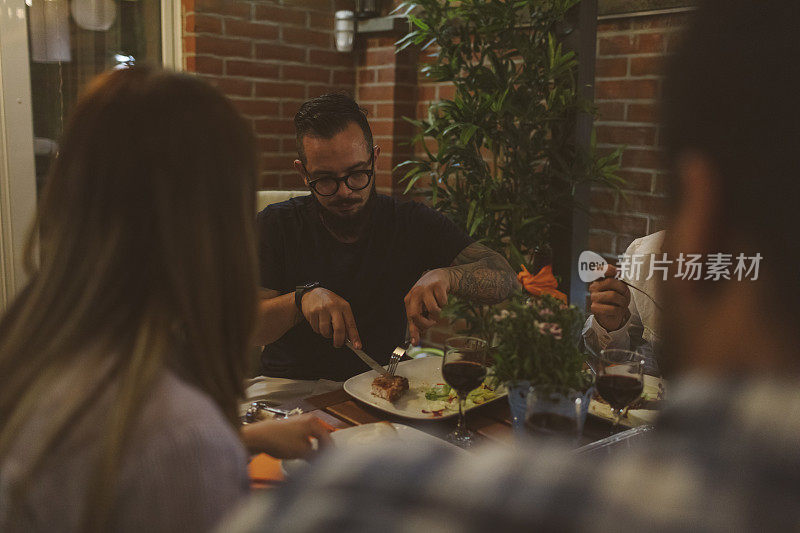
[[[364,132],[367,148],[372,148],[372,130],[367,122],[367,110],[360,107],[353,98],[345,93],[328,93],[312,98],[303,105],[294,116],[294,128],[297,135],[297,156],[306,164],[306,153],[303,138],[306,136],[330,139],[344,131],[355,122]]]

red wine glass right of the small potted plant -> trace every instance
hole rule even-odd
[[[644,389],[642,356],[630,350],[603,350],[596,359],[597,392],[614,412],[614,430],[625,409],[639,399]]]

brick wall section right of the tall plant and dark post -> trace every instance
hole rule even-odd
[[[690,13],[604,20],[597,28],[598,146],[624,148],[621,192],[594,187],[589,247],[616,255],[664,229],[666,179],[658,98],[666,55]]]

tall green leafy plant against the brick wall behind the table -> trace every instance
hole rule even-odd
[[[407,119],[424,156],[398,165],[406,192],[421,189],[515,268],[530,267],[535,252],[550,247],[557,220],[576,207],[578,184],[620,182],[618,152],[600,156],[594,141],[588,150],[576,142],[577,117],[594,112],[577,86],[578,58],[560,41],[578,2],[416,0],[398,7],[413,25],[398,48],[421,47],[428,54],[422,74],[455,88],[425,119]],[[474,333],[486,330],[486,312],[464,301],[449,309]]]

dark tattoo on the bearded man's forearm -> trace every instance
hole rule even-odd
[[[503,256],[479,243],[472,243],[445,268],[450,291],[482,304],[496,304],[519,289],[517,275]]]

